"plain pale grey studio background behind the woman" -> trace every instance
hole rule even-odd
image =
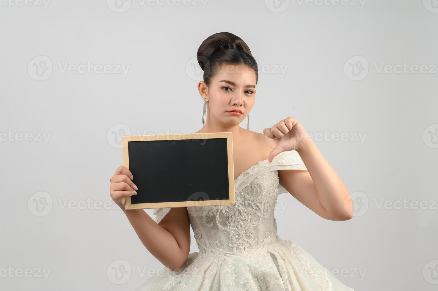
[[[133,290],[162,267],[109,178],[121,135],[201,128],[216,32],[258,62],[250,130],[297,118],[355,202],[328,221],[283,194],[279,236],[357,291],[436,290],[436,0],[0,0],[0,25],[1,290]]]

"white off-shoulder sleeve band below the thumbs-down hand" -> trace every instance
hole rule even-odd
[[[253,179],[263,175],[265,172],[272,172],[278,170],[305,170],[303,160],[297,151],[283,151],[277,154],[271,163],[268,160],[260,161],[257,165],[249,168],[243,172],[242,175],[236,180],[235,187],[236,192],[242,190]],[[283,186],[278,186],[277,194],[287,193],[287,190]]]

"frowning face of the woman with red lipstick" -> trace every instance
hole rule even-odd
[[[208,100],[210,119],[227,126],[240,124],[254,106],[255,83],[254,70],[244,65],[223,65],[209,88],[200,82],[198,88],[202,98]],[[228,112],[233,109],[242,114]]]

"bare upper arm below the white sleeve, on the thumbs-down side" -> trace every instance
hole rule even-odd
[[[307,208],[321,217],[327,212],[319,201],[313,180],[305,170],[279,170],[279,184]]]

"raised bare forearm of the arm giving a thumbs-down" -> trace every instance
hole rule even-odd
[[[306,165],[325,210],[334,217],[351,217],[353,204],[347,199],[350,194],[313,140],[306,140],[297,152]]]

